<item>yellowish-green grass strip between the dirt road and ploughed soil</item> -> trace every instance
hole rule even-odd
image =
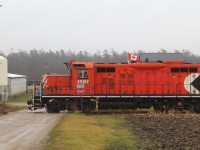
[[[147,147],[115,116],[82,113],[65,115],[51,131],[49,142],[47,150],[137,150]]]

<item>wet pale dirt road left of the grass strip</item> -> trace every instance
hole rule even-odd
[[[40,150],[48,133],[66,112],[19,111],[0,116],[0,150]]]

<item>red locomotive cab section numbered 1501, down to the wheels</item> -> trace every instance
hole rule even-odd
[[[71,105],[78,106],[83,112],[90,112],[96,108],[94,100],[94,63],[70,61],[71,77]],[[70,106],[71,107],[71,106]],[[73,106],[69,109],[73,109]]]

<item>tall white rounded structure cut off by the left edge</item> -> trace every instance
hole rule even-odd
[[[8,62],[0,56],[0,100],[7,100],[8,95]]]

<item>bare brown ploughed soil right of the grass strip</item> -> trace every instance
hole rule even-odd
[[[157,150],[200,149],[200,115],[198,114],[123,114],[134,134],[152,142]]]

